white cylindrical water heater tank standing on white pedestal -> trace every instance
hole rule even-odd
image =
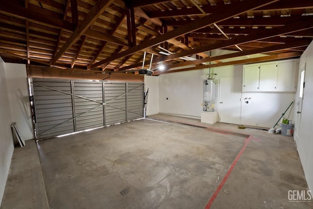
[[[203,81],[203,111],[214,112],[215,108],[215,83],[213,79]]]

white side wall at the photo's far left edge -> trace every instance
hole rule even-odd
[[[0,205],[14,150],[7,82],[5,64],[0,57]]]

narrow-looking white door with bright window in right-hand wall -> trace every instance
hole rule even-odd
[[[305,76],[305,65],[301,68],[300,74],[300,88],[299,88],[299,98],[297,106],[297,117],[294,126],[294,140],[299,144],[298,140],[300,138],[300,121],[301,121],[301,111],[302,111],[302,101],[304,96],[304,76]]]

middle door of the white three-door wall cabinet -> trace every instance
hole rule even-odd
[[[260,84],[259,91],[276,91],[277,68],[276,63],[260,65]]]

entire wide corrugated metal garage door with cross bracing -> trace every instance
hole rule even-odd
[[[32,79],[37,139],[144,116],[144,84]]]

